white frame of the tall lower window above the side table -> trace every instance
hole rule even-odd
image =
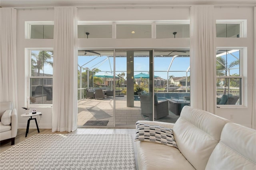
[[[32,51],[53,51],[53,48],[27,48],[25,49],[25,56],[27,57],[25,61],[25,75],[26,75],[26,87],[27,87],[27,92],[26,92],[26,99],[29,99],[30,93],[30,83],[32,78],[38,78],[38,79],[52,79],[53,81],[53,76],[31,76],[31,52]],[[53,97],[53,96],[52,96]],[[52,107],[52,104],[30,104],[28,102],[28,107]]]

